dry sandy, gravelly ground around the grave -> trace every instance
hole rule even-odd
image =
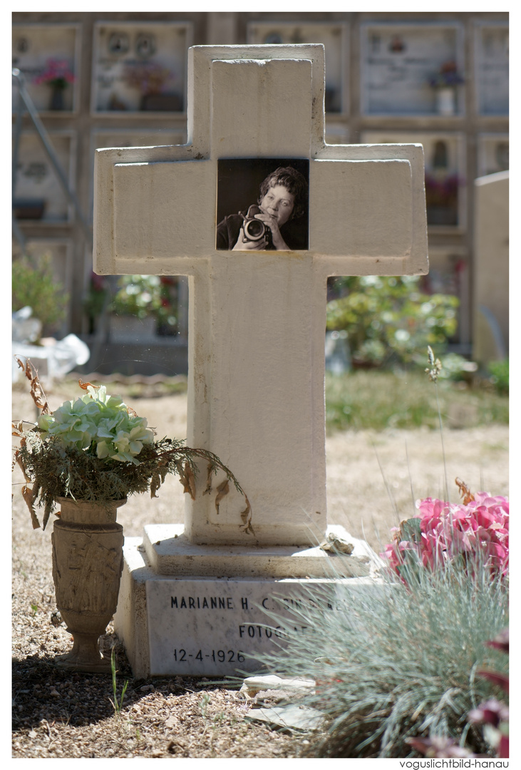
[[[84,378],[85,379],[85,378]],[[125,386],[128,388],[128,383]],[[114,393],[122,388],[111,385]],[[130,395],[127,395],[130,393]],[[159,435],[185,437],[185,394],[165,395],[151,380],[126,390],[125,401],[147,417]],[[51,409],[75,397],[70,383],[47,392]],[[13,394],[13,419],[34,420],[25,383]],[[508,428],[498,425],[444,433],[446,469],[439,433],[392,430],[342,432],[328,437],[328,521],[365,537],[376,550],[389,529],[413,511],[412,500],[443,494],[444,478],[457,477],[471,490],[508,494]],[[446,471],[446,472],[445,472]],[[296,758],[316,735],[280,732],[245,714],[262,695],[246,701],[236,688],[208,679],[132,677],[125,651],[109,625],[102,649],[115,647],[117,709],[110,675],[67,674],[52,666],[71,648],[57,615],[51,569],[51,531],[33,530],[13,474],[12,645],[13,749],[15,758]],[[457,490],[450,490],[456,500]],[[136,496],[119,509],[127,536],[145,524],[182,522],[179,480],[170,477],[159,498]],[[53,517],[51,517],[53,518]],[[303,672],[304,673],[304,672]],[[125,697],[122,688],[128,681]],[[273,701],[268,698],[267,704]]]

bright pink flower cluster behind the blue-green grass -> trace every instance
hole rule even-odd
[[[509,501],[486,492],[461,504],[427,497],[418,500],[419,513],[399,527],[382,557],[397,574],[408,552],[415,552],[424,567],[442,566],[459,554],[480,554],[493,574],[509,569]],[[419,519],[419,527],[416,520]],[[406,539],[408,538],[408,539]],[[411,554],[412,555],[412,554]]]

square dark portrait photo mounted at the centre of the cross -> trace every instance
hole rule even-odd
[[[216,249],[307,250],[309,160],[219,159],[216,221]]]

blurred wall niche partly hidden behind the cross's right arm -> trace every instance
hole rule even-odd
[[[362,133],[361,142],[423,145],[429,229],[453,232],[466,228],[466,163],[461,134],[366,131]]]

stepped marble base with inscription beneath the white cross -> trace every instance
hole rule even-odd
[[[312,601],[310,588],[334,585],[330,611],[342,611],[346,586],[367,591],[380,582],[379,557],[343,527],[327,534],[351,542],[349,555],[321,547],[194,545],[183,529],[151,524],[143,538],[125,539],[114,625],[135,678],[259,671],[255,654],[281,643],[281,618],[299,628],[289,608]]]

